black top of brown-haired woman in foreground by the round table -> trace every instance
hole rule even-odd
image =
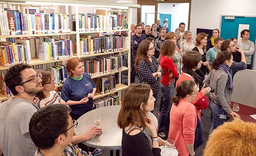
[[[122,150],[123,156],[161,156],[161,149],[151,149],[142,131],[136,135],[128,135],[123,129]]]

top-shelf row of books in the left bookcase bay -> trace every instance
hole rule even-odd
[[[0,12],[0,30],[2,36],[71,32],[70,16],[62,13],[26,14],[4,10]]]

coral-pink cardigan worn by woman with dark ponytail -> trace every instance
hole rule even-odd
[[[179,152],[179,156],[189,155],[186,144],[194,142],[196,126],[196,108],[192,103],[180,99],[177,106],[172,105],[168,139],[175,141],[175,147]]]

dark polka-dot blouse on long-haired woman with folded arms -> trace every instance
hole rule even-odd
[[[138,65],[138,75],[140,78],[140,83],[147,83],[150,85],[153,95],[158,94],[159,92],[159,78],[152,76],[152,73],[157,72],[159,63],[156,61],[154,56],[152,58],[152,65],[149,65],[145,61],[140,61]],[[164,70],[160,71],[164,75]]]

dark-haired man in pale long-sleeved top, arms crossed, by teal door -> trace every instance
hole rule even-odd
[[[249,40],[250,30],[242,30],[241,37],[242,39],[238,41],[237,46],[244,51],[247,69],[251,69],[251,55],[254,54],[254,43]]]

